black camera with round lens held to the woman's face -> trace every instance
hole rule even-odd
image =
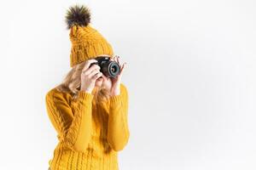
[[[100,71],[106,77],[117,77],[120,72],[120,66],[116,61],[110,60],[109,57],[98,56],[95,58],[98,62],[92,63],[91,65],[99,65],[101,67]],[[90,65],[90,66],[91,66]]]

